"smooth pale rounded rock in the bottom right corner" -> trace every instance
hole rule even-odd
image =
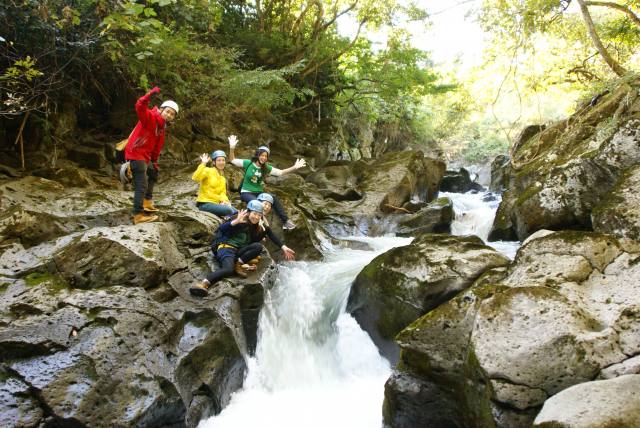
[[[548,399],[534,427],[640,426],[640,375],[585,382]]]

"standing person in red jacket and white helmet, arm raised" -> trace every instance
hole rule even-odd
[[[133,175],[133,223],[158,219],[154,212],[153,186],[158,181],[158,159],[164,146],[164,131],[180,110],[175,101],[165,101],[160,108],[149,109],[149,100],[160,92],[157,86],[136,102],[138,123],[129,136],[124,157]]]

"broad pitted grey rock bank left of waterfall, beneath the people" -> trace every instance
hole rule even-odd
[[[0,186],[0,425],[195,426],[241,387],[275,265],[191,297],[219,220],[166,190],[134,226],[128,192]]]

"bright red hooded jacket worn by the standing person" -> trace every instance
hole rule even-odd
[[[160,151],[164,146],[165,120],[157,107],[149,110],[149,100],[152,93],[141,96],[136,102],[138,123],[129,136],[129,142],[124,151],[127,160],[143,160],[154,164],[158,162]]]

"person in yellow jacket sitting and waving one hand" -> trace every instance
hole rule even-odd
[[[227,179],[222,174],[227,162],[227,155],[222,150],[216,150],[209,156],[200,156],[200,165],[191,179],[200,183],[196,206],[200,211],[206,211],[220,217],[233,215],[238,212],[231,206],[227,197]],[[213,162],[213,168],[208,167]]]

